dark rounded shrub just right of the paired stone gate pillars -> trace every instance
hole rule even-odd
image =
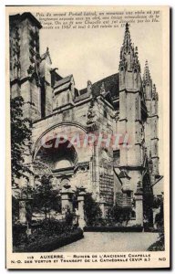
[[[87,226],[97,226],[101,223],[102,212],[98,203],[93,199],[92,195],[85,196],[84,211]]]

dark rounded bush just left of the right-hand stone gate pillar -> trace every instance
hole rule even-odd
[[[131,216],[132,209],[130,207],[121,207],[114,205],[108,210],[108,224],[119,224],[122,225],[123,222],[128,223]]]

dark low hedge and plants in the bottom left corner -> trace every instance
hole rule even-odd
[[[64,245],[68,240],[78,239],[79,236],[82,237],[82,230],[73,226],[72,222],[67,224],[67,220],[56,220],[55,218],[44,219],[37,224],[37,226],[31,226],[32,234],[26,236],[26,227],[21,224],[15,224],[13,227],[13,245],[14,249],[21,249],[22,251],[27,251],[32,248],[34,250],[41,248],[42,246],[46,248],[46,251],[53,248],[53,245],[57,242],[57,247]],[[36,228],[35,228],[36,227]],[[74,235],[76,233],[76,235]],[[75,237],[76,236],[76,237]],[[45,247],[46,246],[46,247]],[[50,250],[51,250],[50,249]],[[33,250],[33,251],[34,251]],[[52,249],[53,250],[53,249]]]

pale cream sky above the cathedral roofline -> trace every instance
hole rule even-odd
[[[159,92],[159,114],[162,113],[162,37],[160,23],[131,24],[131,41],[139,50],[141,75],[146,59],[153,83]],[[76,87],[81,90],[92,83],[118,72],[120,47],[125,27],[107,29],[41,29],[40,53],[49,48],[52,68],[58,68],[62,77],[74,75]],[[163,124],[159,124],[160,148]],[[160,150],[160,170],[163,166]],[[160,172],[161,173],[161,172]],[[161,173],[162,174],[162,173]]]

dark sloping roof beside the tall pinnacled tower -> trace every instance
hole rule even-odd
[[[104,79],[100,79],[94,84],[92,84],[92,94],[93,96],[98,96],[100,94],[100,88],[102,83],[104,82],[105,90],[110,92],[112,99],[114,100],[119,96],[119,75],[118,73],[112,74]],[[87,92],[87,88],[83,90],[79,90],[79,94],[85,94]]]

